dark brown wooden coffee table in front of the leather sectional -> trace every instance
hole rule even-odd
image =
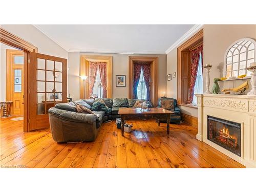
[[[119,108],[118,114],[121,115],[121,130],[123,136],[124,121],[136,119],[158,119],[158,126],[160,126],[160,119],[166,119],[167,134],[169,134],[170,114],[174,114],[174,112],[163,108],[150,108],[150,111],[144,110],[143,112],[140,111],[140,108]]]

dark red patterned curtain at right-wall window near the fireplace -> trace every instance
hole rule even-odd
[[[191,67],[190,67],[190,85],[189,85],[189,96],[188,103],[193,101],[194,96],[194,87],[197,79],[197,70],[200,54],[202,54],[202,65],[203,65],[203,45],[199,46],[197,49],[194,49],[190,52],[191,57]]]

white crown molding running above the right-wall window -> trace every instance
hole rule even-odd
[[[200,31],[204,25],[194,25],[189,29],[184,35],[182,35],[172,46],[170,46],[166,51],[165,54],[167,55],[170,51],[177,48],[182,42],[186,41],[188,38],[193,36],[195,33]]]

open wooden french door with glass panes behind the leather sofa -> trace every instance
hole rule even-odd
[[[49,127],[48,110],[67,102],[67,59],[30,52],[28,131]]]

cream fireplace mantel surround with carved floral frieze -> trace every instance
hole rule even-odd
[[[246,167],[256,167],[256,95],[196,94],[197,139]],[[241,157],[207,139],[207,115],[241,123]]]

